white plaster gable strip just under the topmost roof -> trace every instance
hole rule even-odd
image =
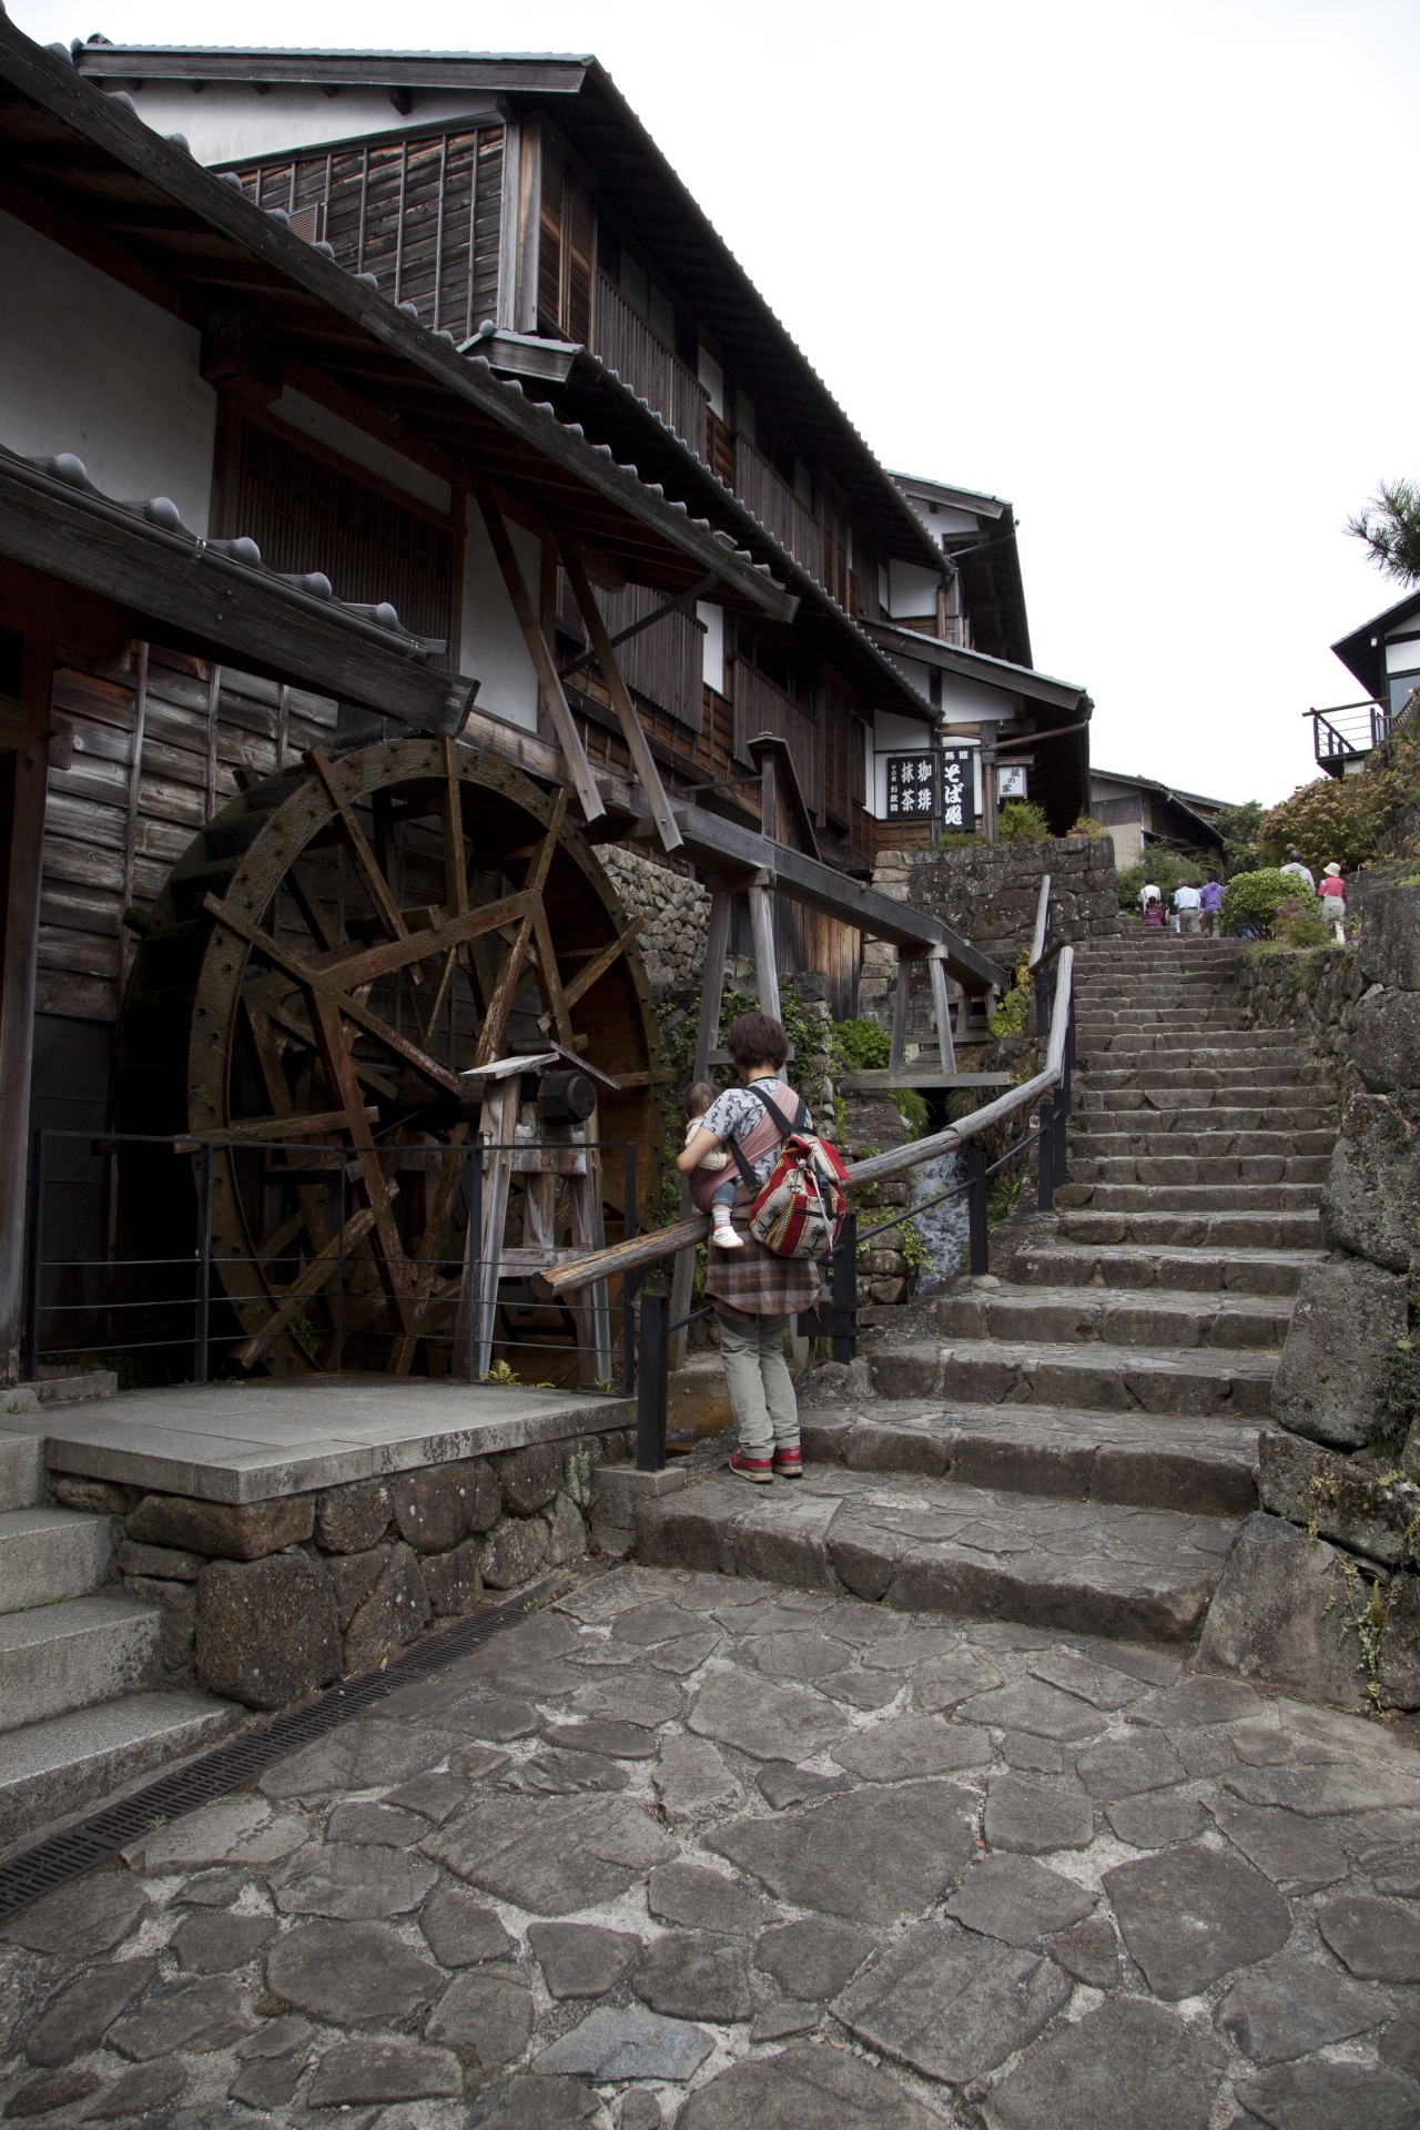
[[[273,87],[258,96],[245,81],[213,81],[200,94],[187,81],[149,81],[130,92],[138,117],[153,132],[187,136],[198,162],[238,162],[247,155],[283,155],[366,134],[432,126],[439,119],[496,115],[490,94],[415,89],[409,117],[379,87]]]

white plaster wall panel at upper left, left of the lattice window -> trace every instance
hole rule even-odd
[[[0,288],[0,443],[75,452],[104,494],[170,496],[207,532],[217,394],[198,371],[200,334],[11,215]]]

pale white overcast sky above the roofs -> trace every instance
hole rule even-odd
[[[1414,0],[9,0],[43,43],[594,51],[873,449],[1009,496],[1094,763],[1314,773],[1420,477]]]

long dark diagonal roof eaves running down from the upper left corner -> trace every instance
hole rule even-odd
[[[377,377],[377,390],[400,400],[411,435],[453,447],[462,435],[488,452],[492,477],[522,481],[532,503],[541,484],[549,509],[579,513],[583,537],[605,539],[611,528],[624,552],[634,550],[645,581],[683,586],[713,571],[730,605],[792,618],[794,596],[728,535],[692,522],[686,505],[668,503],[519,383],[462,360],[451,337],[430,332],[307,245],[283,215],[255,207],[238,185],[151,132],[126,102],[81,79],[64,47],[47,51],[4,17],[0,92],[6,175],[47,209],[57,207],[79,234],[94,224],[111,241],[119,224],[121,247],[158,266],[164,283],[202,290],[204,300],[211,288],[211,300],[266,302],[281,330],[307,337],[317,366],[345,364],[356,381]]]

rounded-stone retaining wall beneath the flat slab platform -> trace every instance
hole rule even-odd
[[[117,1568],[162,1608],[168,1683],[283,1708],[585,1553],[596,1470],[632,1453],[613,1429],[253,1504],[92,1478],[53,1491],[119,1519]]]

